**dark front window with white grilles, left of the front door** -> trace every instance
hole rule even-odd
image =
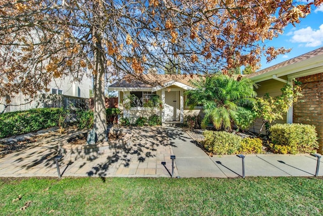
[[[133,95],[132,107],[153,107],[155,98],[158,97],[156,93],[150,91],[131,91],[130,94]]]

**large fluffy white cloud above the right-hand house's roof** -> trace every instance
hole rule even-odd
[[[319,29],[312,29],[310,26],[293,31],[293,35],[290,39],[293,43],[301,43],[301,46],[315,47],[323,44],[323,24],[319,26]]]

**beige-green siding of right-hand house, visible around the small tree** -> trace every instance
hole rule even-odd
[[[287,79],[287,78],[285,78]],[[277,81],[277,80],[266,80],[257,83],[259,87],[256,90],[257,97],[262,97],[265,94],[269,96],[275,97],[282,94],[281,89],[284,87],[285,83]],[[286,123],[286,115],[283,116],[282,120],[277,120],[272,124],[285,124]],[[254,133],[259,133],[262,125],[262,119],[256,119],[253,126],[250,127],[249,131]],[[265,134],[265,127],[263,126],[261,133]]]

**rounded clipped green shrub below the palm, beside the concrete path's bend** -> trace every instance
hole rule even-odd
[[[241,146],[242,138],[225,131],[204,131],[204,148],[214,154],[235,154]]]

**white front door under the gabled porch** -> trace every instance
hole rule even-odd
[[[178,121],[178,91],[165,91],[165,120]]]

